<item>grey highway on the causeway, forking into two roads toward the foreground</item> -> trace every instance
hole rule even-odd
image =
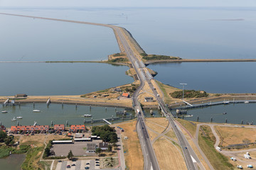
[[[139,60],[135,55],[134,52],[132,51],[132,48],[129,47],[129,44],[127,40],[124,38],[124,35],[121,31],[122,28],[114,27],[114,30],[117,31],[117,34],[119,35],[120,41],[122,42],[122,45],[124,47],[124,51],[127,53],[127,57],[129,58],[130,62],[132,62],[132,66],[134,67],[137,76],[139,78],[139,81],[141,81],[141,84],[137,91],[134,92],[134,95],[132,96],[132,100],[134,103],[134,108],[135,111],[139,111],[137,114],[138,116],[138,122],[137,122],[137,132],[139,136],[139,140],[141,141],[142,145],[142,152],[144,154],[144,169],[159,169],[159,164],[156,159],[156,154],[154,153],[154,149],[151,145],[151,141],[149,139],[149,134],[146,130],[146,125],[144,123],[144,115],[142,112],[142,107],[140,106],[140,103],[138,101],[138,94],[139,91],[142,90],[145,82],[147,82],[151,88],[151,90],[154,92],[154,96],[156,97],[156,100],[159,103],[159,106],[161,108],[162,113],[166,116],[166,118],[169,120],[171,127],[174,129],[174,132],[178,138],[178,142],[181,145],[181,149],[183,151],[184,159],[186,161],[186,166],[189,170],[196,170],[196,166],[194,165],[192,158],[191,158],[191,153],[190,150],[191,147],[188,144],[188,141],[186,140],[186,137],[178,130],[175,122],[174,122],[174,117],[171,115],[171,112],[169,111],[169,108],[166,106],[164,101],[161,99],[159,94],[157,94],[156,89],[154,86],[151,84],[151,81],[154,81],[153,77],[151,77],[151,74],[148,74],[144,72],[144,63]],[[193,153],[193,157],[199,161],[198,157],[196,154]]]

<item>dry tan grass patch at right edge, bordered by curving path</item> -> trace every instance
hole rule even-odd
[[[256,129],[252,128],[215,126],[215,129],[220,135],[220,145],[223,147],[245,142],[255,142],[256,139]]]

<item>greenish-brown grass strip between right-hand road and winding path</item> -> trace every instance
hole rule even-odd
[[[214,148],[215,137],[211,132],[210,127],[208,125],[202,125],[201,128],[204,133],[200,130],[198,143],[213,168],[215,170],[233,169],[233,164],[230,164],[229,159],[223,156],[223,154],[220,154],[220,152],[217,152]],[[206,136],[203,134],[206,134]]]

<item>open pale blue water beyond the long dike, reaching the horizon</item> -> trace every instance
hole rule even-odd
[[[127,28],[149,54],[183,58],[255,58],[256,53],[256,8],[38,8],[1,11],[117,24]],[[58,27],[64,23],[55,24]]]

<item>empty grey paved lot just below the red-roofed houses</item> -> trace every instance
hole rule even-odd
[[[99,146],[100,142],[102,142],[102,140],[96,140],[94,142],[74,142],[73,144],[55,144],[52,149],[55,152],[55,156],[67,156],[70,150],[72,150],[75,156],[89,156],[95,154],[86,153],[87,144],[95,143]]]

